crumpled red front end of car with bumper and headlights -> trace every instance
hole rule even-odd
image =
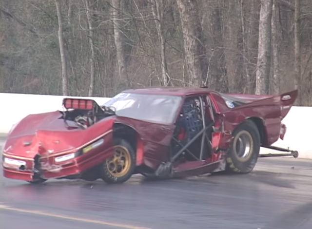
[[[3,176],[34,181],[79,175],[113,154],[112,137],[108,130],[89,141],[80,131],[38,131],[35,135],[9,138],[2,156]]]

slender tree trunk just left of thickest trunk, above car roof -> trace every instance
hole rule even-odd
[[[154,20],[156,23],[157,35],[160,45],[160,57],[161,57],[161,75],[163,80],[163,85],[167,86],[169,83],[168,77],[168,67],[166,61],[166,40],[163,35],[163,11],[160,8],[163,5],[162,0],[153,0],[152,1],[152,12],[154,16]]]

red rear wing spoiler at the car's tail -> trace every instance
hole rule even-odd
[[[241,96],[243,97],[243,95]],[[257,95],[255,95],[255,97],[256,96]],[[260,96],[265,96],[265,95],[260,95]],[[271,105],[280,106],[281,116],[283,119],[289,113],[290,109],[292,108],[292,105],[296,101],[298,97],[298,90],[293,90],[293,91],[286,92],[280,95],[267,95],[267,96],[269,97],[254,100],[250,103],[246,103],[237,108],[251,107],[251,106],[271,106]]]

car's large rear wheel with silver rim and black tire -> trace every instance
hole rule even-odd
[[[241,123],[233,132],[234,139],[226,157],[227,173],[249,173],[260,153],[260,134],[253,121]]]

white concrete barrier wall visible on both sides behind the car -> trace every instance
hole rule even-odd
[[[64,96],[29,95],[0,93],[1,119],[0,135],[7,134],[12,125],[29,114],[62,110]],[[86,98],[86,97],[80,97]],[[110,98],[92,97],[99,105]],[[287,126],[284,141],[278,140],[274,146],[289,147],[299,152],[299,158],[312,159],[312,107],[292,107],[284,118]],[[278,153],[269,149],[261,149],[261,153]]]

